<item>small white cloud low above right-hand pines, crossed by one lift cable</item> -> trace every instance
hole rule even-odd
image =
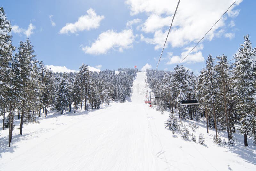
[[[193,47],[186,47],[184,52],[181,53],[180,56],[171,56],[169,58],[169,61],[166,63],[167,65],[171,65],[171,64],[179,64],[184,58],[185,56],[188,55],[188,53],[190,52],[190,50]],[[203,49],[203,45],[200,44],[199,46],[197,46],[183,61],[183,63],[196,63],[196,62],[204,62],[204,57],[203,54],[200,50]]]

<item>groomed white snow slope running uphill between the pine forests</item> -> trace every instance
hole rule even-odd
[[[203,133],[206,145],[172,135],[164,125],[168,112],[144,103],[145,78],[137,74],[126,103],[76,114],[50,111],[47,118],[38,118],[40,124],[24,125],[23,135],[16,119],[10,148],[9,129],[0,131],[0,170],[256,170],[256,147],[251,139],[244,147],[238,130],[235,146],[214,144],[214,129],[207,134],[203,121],[196,122],[194,134],[198,141]],[[227,137],[224,131],[220,135]]]

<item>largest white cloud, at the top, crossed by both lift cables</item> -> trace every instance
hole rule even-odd
[[[220,19],[204,40],[211,41],[216,33],[226,25],[227,17],[236,17],[239,14],[239,10],[234,10],[234,7],[239,5],[241,1],[236,1],[235,5],[229,9],[228,15]],[[188,46],[190,43],[199,41],[233,2],[233,0],[180,1],[166,43],[167,47],[170,44],[172,47]],[[147,37],[141,36],[141,40],[155,45],[156,50],[162,48],[177,1],[127,0],[126,4],[129,5],[131,15],[145,13],[148,16],[148,19],[142,24],[141,30],[145,33],[153,33],[153,36],[151,37],[150,34]]]

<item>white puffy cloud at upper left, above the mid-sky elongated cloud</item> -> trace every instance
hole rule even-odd
[[[62,27],[60,34],[76,33],[83,30],[91,30],[100,26],[100,21],[104,19],[104,16],[97,15],[96,12],[90,8],[86,11],[87,15],[82,15],[75,23],[66,23],[66,26]]]

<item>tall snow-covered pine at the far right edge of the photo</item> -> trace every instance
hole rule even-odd
[[[244,36],[244,43],[241,44],[238,52],[235,54],[236,61],[233,68],[233,83],[236,91],[238,114],[241,117],[242,126],[240,131],[244,134],[244,146],[248,146],[247,135],[251,136],[255,129],[255,51],[252,49],[249,35]],[[242,55],[243,53],[246,54]]]

